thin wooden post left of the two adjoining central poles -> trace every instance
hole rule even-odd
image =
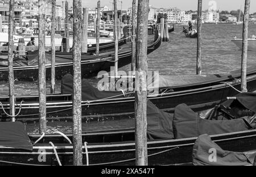
[[[117,0],[114,0],[115,76],[118,76]]]

